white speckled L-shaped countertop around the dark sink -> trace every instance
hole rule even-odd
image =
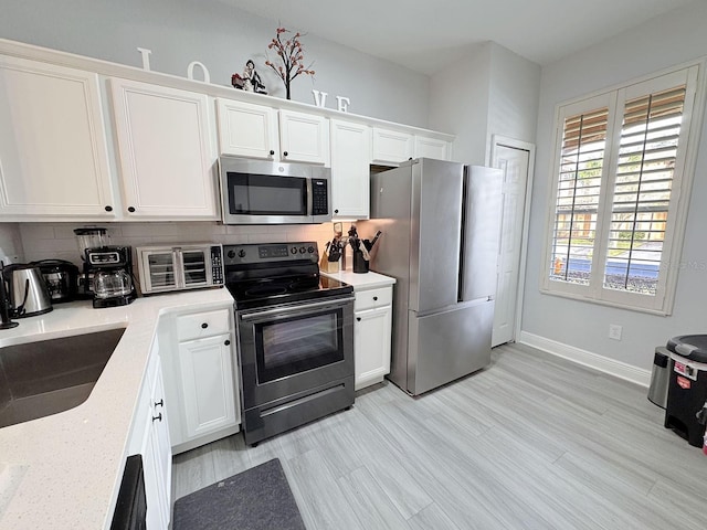
[[[127,442],[160,315],[232,304],[225,288],[138,298],[94,309],[55,305],[0,331],[0,348],[126,327],[88,399],[68,411],[0,428],[0,529],[109,528]]]

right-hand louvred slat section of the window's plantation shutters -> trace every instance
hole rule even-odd
[[[611,210],[605,288],[655,295],[686,86],[625,102]]]

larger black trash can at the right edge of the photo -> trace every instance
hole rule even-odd
[[[683,335],[667,342],[672,352],[665,427],[701,447],[707,401],[707,335]]]

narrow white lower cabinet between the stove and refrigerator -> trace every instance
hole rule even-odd
[[[355,388],[379,383],[390,373],[392,286],[354,286]]]

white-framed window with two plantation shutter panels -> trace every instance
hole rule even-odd
[[[558,107],[544,292],[671,312],[697,73],[694,65]]]

